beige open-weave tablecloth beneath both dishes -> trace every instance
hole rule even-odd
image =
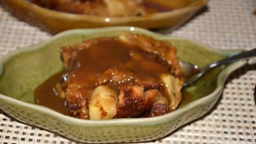
[[[5,1],[5,0],[3,0]],[[8,1],[8,0],[6,0]],[[211,0],[208,8],[166,35],[190,37],[215,49],[256,47],[255,0]],[[50,38],[47,32],[19,21],[0,6],[0,57]],[[161,139],[148,143],[256,143],[256,60],[230,75],[216,106]],[[76,143],[58,134],[29,126],[0,111],[0,143]],[[145,142],[147,143],[147,142]]]

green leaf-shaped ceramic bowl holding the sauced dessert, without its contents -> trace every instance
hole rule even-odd
[[[124,31],[170,41],[178,47],[180,60],[199,66],[241,52],[214,50],[194,40],[164,36],[134,27],[70,30],[19,49],[0,60],[0,107],[18,121],[78,141],[147,141],[163,137],[209,111],[220,97],[228,75],[246,63],[241,61],[211,70],[196,84],[183,89],[184,93],[193,95],[189,101],[182,101],[174,112],[157,117],[91,121],[33,104],[34,89],[63,68],[59,52],[61,46],[99,36],[118,36]]]

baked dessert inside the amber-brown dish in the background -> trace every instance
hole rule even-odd
[[[97,16],[139,16],[172,9],[152,0],[28,0],[41,7]]]

